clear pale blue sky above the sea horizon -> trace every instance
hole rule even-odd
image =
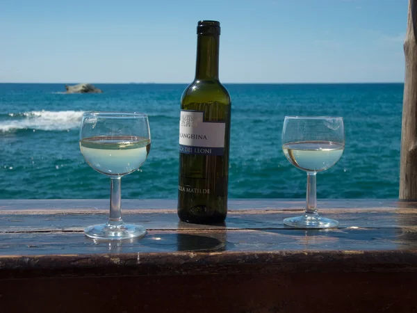
[[[0,83],[190,83],[218,20],[223,83],[404,81],[408,0],[0,0]]]

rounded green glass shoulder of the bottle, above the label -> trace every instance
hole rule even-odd
[[[231,99],[227,89],[220,81],[195,80],[183,91],[182,104],[193,102],[220,102],[230,104]]]

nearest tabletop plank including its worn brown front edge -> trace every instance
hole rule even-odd
[[[1,234],[0,278],[281,272],[416,272],[417,230]]]

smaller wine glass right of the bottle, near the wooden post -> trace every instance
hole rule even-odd
[[[288,161],[307,172],[306,211],[302,216],[285,218],[284,224],[302,228],[337,227],[337,220],[317,213],[316,174],[334,166],[343,154],[343,118],[286,116],[281,138]]]

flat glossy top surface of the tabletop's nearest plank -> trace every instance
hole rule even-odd
[[[182,251],[417,250],[417,227],[345,230],[149,231],[143,239],[95,241],[82,232],[0,234],[0,256]]]

